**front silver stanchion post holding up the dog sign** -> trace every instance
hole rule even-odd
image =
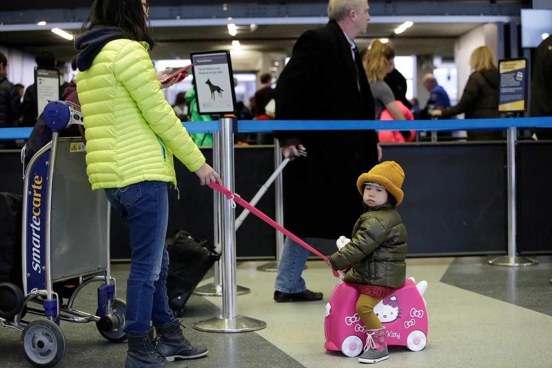
[[[234,146],[233,119],[220,119],[222,184],[233,191]],[[230,201],[222,205],[222,315],[194,324],[194,328],[208,332],[246,332],[265,328],[266,322],[237,314],[236,290],[236,232],[235,212]]]

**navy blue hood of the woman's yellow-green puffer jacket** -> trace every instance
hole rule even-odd
[[[110,41],[124,39],[123,31],[119,27],[97,25],[75,39],[78,70],[84,72],[92,66],[94,58]]]

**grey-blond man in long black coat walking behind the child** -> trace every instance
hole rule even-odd
[[[368,1],[344,6],[330,0],[330,22],[306,31],[297,40],[276,88],[277,120],[374,120],[374,98],[352,41],[366,31]],[[301,123],[298,123],[301,124]],[[312,243],[312,238],[337,239],[352,231],[363,212],[362,198],[351,183],[368,172],[381,151],[370,124],[367,130],[291,130],[275,136],[285,157],[295,158],[283,173],[284,226]],[[278,268],[274,300],[321,300],[306,289],[301,271],[309,251],[286,239]]]

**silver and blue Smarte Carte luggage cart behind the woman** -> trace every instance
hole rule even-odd
[[[0,310],[0,325],[22,332],[24,354],[32,365],[52,367],[65,354],[60,321],[95,322],[105,339],[123,342],[126,303],[116,298],[111,276],[109,202],[103,190],[91,189],[81,138],[59,137],[67,126],[82,125],[82,114],[76,106],[54,101],[46,105],[43,118],[52,141],[24,168],[23,290],[0,284],[0,291],[12,296],[11,307]],[[97,310],[75,310],[76,296],[94,281],[102,282]],[[27,322],[25,314],[46,318]]]

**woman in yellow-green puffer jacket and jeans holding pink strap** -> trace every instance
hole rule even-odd
[[[174,358],[208,354],[183,337],[168,306],[167,186],[176,186],[173,155],[200,178],[220,183],[205,163],[161,88],[148,55],[153,40],[144,0],[94,0],[75,40],[77,92],[87,138],[87,173],[92,189],[103,188],[130,231],[132,250],[126,291],[129,348],[125,366],[177,366]],[[190,209],[198,211],[199,209]],[[149,334],[157,330],[153,345]],[[123,319],[121,319],[123,323]],[[155,351],[155,354],[152,353]],[[164,358],[166,359],[164,359]],[[182,366],[182,365],[178,365]]]

